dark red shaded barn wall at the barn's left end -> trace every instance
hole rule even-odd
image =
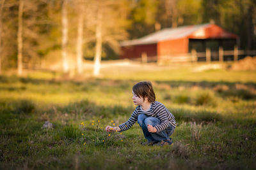
[[[141,53],[147,53],[148,57],[157,55],[157,45],[134,45],[121,47],[121,59],[136,59],[141,57]]]

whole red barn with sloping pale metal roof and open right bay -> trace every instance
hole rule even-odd
[[[140,58],[142,53],[147,57],[159,57],[196,52],[205,52],[206,48],[218,51],[233,50],[238,36],[223,30],[214,24],[189,25],[177,28],[168,28],[148,34],[139,39],[123,41],[121,45],[121,59]],[[218,54],[218,53],[217,53]],[[218,55],[212,55],[212,60],[218,60]]]

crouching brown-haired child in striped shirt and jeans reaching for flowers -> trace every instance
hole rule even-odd
[[[175,118],[162,104],[156,101],[156,96],[149,81],[141,81],[132,87],[132,101],[138,105],[129,120],[117,127],[107,126],[107,132],[127,131],[138,120],[145,138],[141,145],[171,145],[169,138],[175,130]]]

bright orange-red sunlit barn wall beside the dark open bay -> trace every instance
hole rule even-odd
[[[157,43],[157,54],[159,56],[177,55],[180,53],[188,53],[188,38],[160,41]]]

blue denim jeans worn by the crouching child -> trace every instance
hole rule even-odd
[[[172,125],[169,125],[166,129],[164,129],[161,132],[156,132],[156,133],[151,133],[148,132],[148,125],[152,125],[153,127],[157,124],[160,124],[161,121],[159,120],[159,118],[156,117],[147,117],[147,115],[145,114],[140,114],[138,116],[138,124],[140,125],[140,127],[142,128],[143,134],[145,136],[146,139],[148,139],[148,142],[157,142],[157,141],[169,141],[170,138],[169,136],[171,136],[175,130],[175,127],[173,127]]]

